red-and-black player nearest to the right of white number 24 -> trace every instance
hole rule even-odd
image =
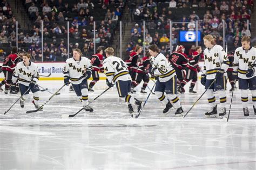
[[[141,46],[136,46],[134,51],[130,53],[129,60],[126,60],[126,66],[129,69],[129,74],[132,77],[132,87],[131,87],[131,93],[136,92],[133,90],[134,87],[136,87],[136,73],[138,69],[138,58],[139,54],[142,52]]]

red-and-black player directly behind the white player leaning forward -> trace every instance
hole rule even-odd
[[[185,47],[183,45],[179,45],[176,48],[170,57],[169,61],[172,63],[173,68],[177,74],[177,86],[181,86],[181,82],[186,77],[186,65],[187,65],[187,55],[184,53]],[[181,88],[178,88],[179,93],[184,93],[184,91],[180,91]]]

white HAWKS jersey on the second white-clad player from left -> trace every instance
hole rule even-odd
[[[86,70],[92,70],[91,60],[82,56],[79,61],[74,58],[66,60],[66,64],[63,69],[64,77],[70,77],[72,84],[80,84],[85,79]]]

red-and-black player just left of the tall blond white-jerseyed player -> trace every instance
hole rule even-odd
[[[186,85],[186,83],[192,80],[192,82],[190,83],[190,93],[197,93],[193,89],[197,82],[197,72],[200,71],[198,61],[200,59],[202,48],[201,46],[197,46],[195,50],[196,51],[192,53],[192,56],[188,57],[188,63],[186,65],[186,77],[181,82],[181,86],[179,87],[180,89],[178,89],[179,91],[185,91],[184,86]]]

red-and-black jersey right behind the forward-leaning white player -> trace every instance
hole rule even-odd
[[[169,61],[172,63],[173,67],[183,69],[187,65],[188,60],[185,53],[175,51],[170,55]]]

